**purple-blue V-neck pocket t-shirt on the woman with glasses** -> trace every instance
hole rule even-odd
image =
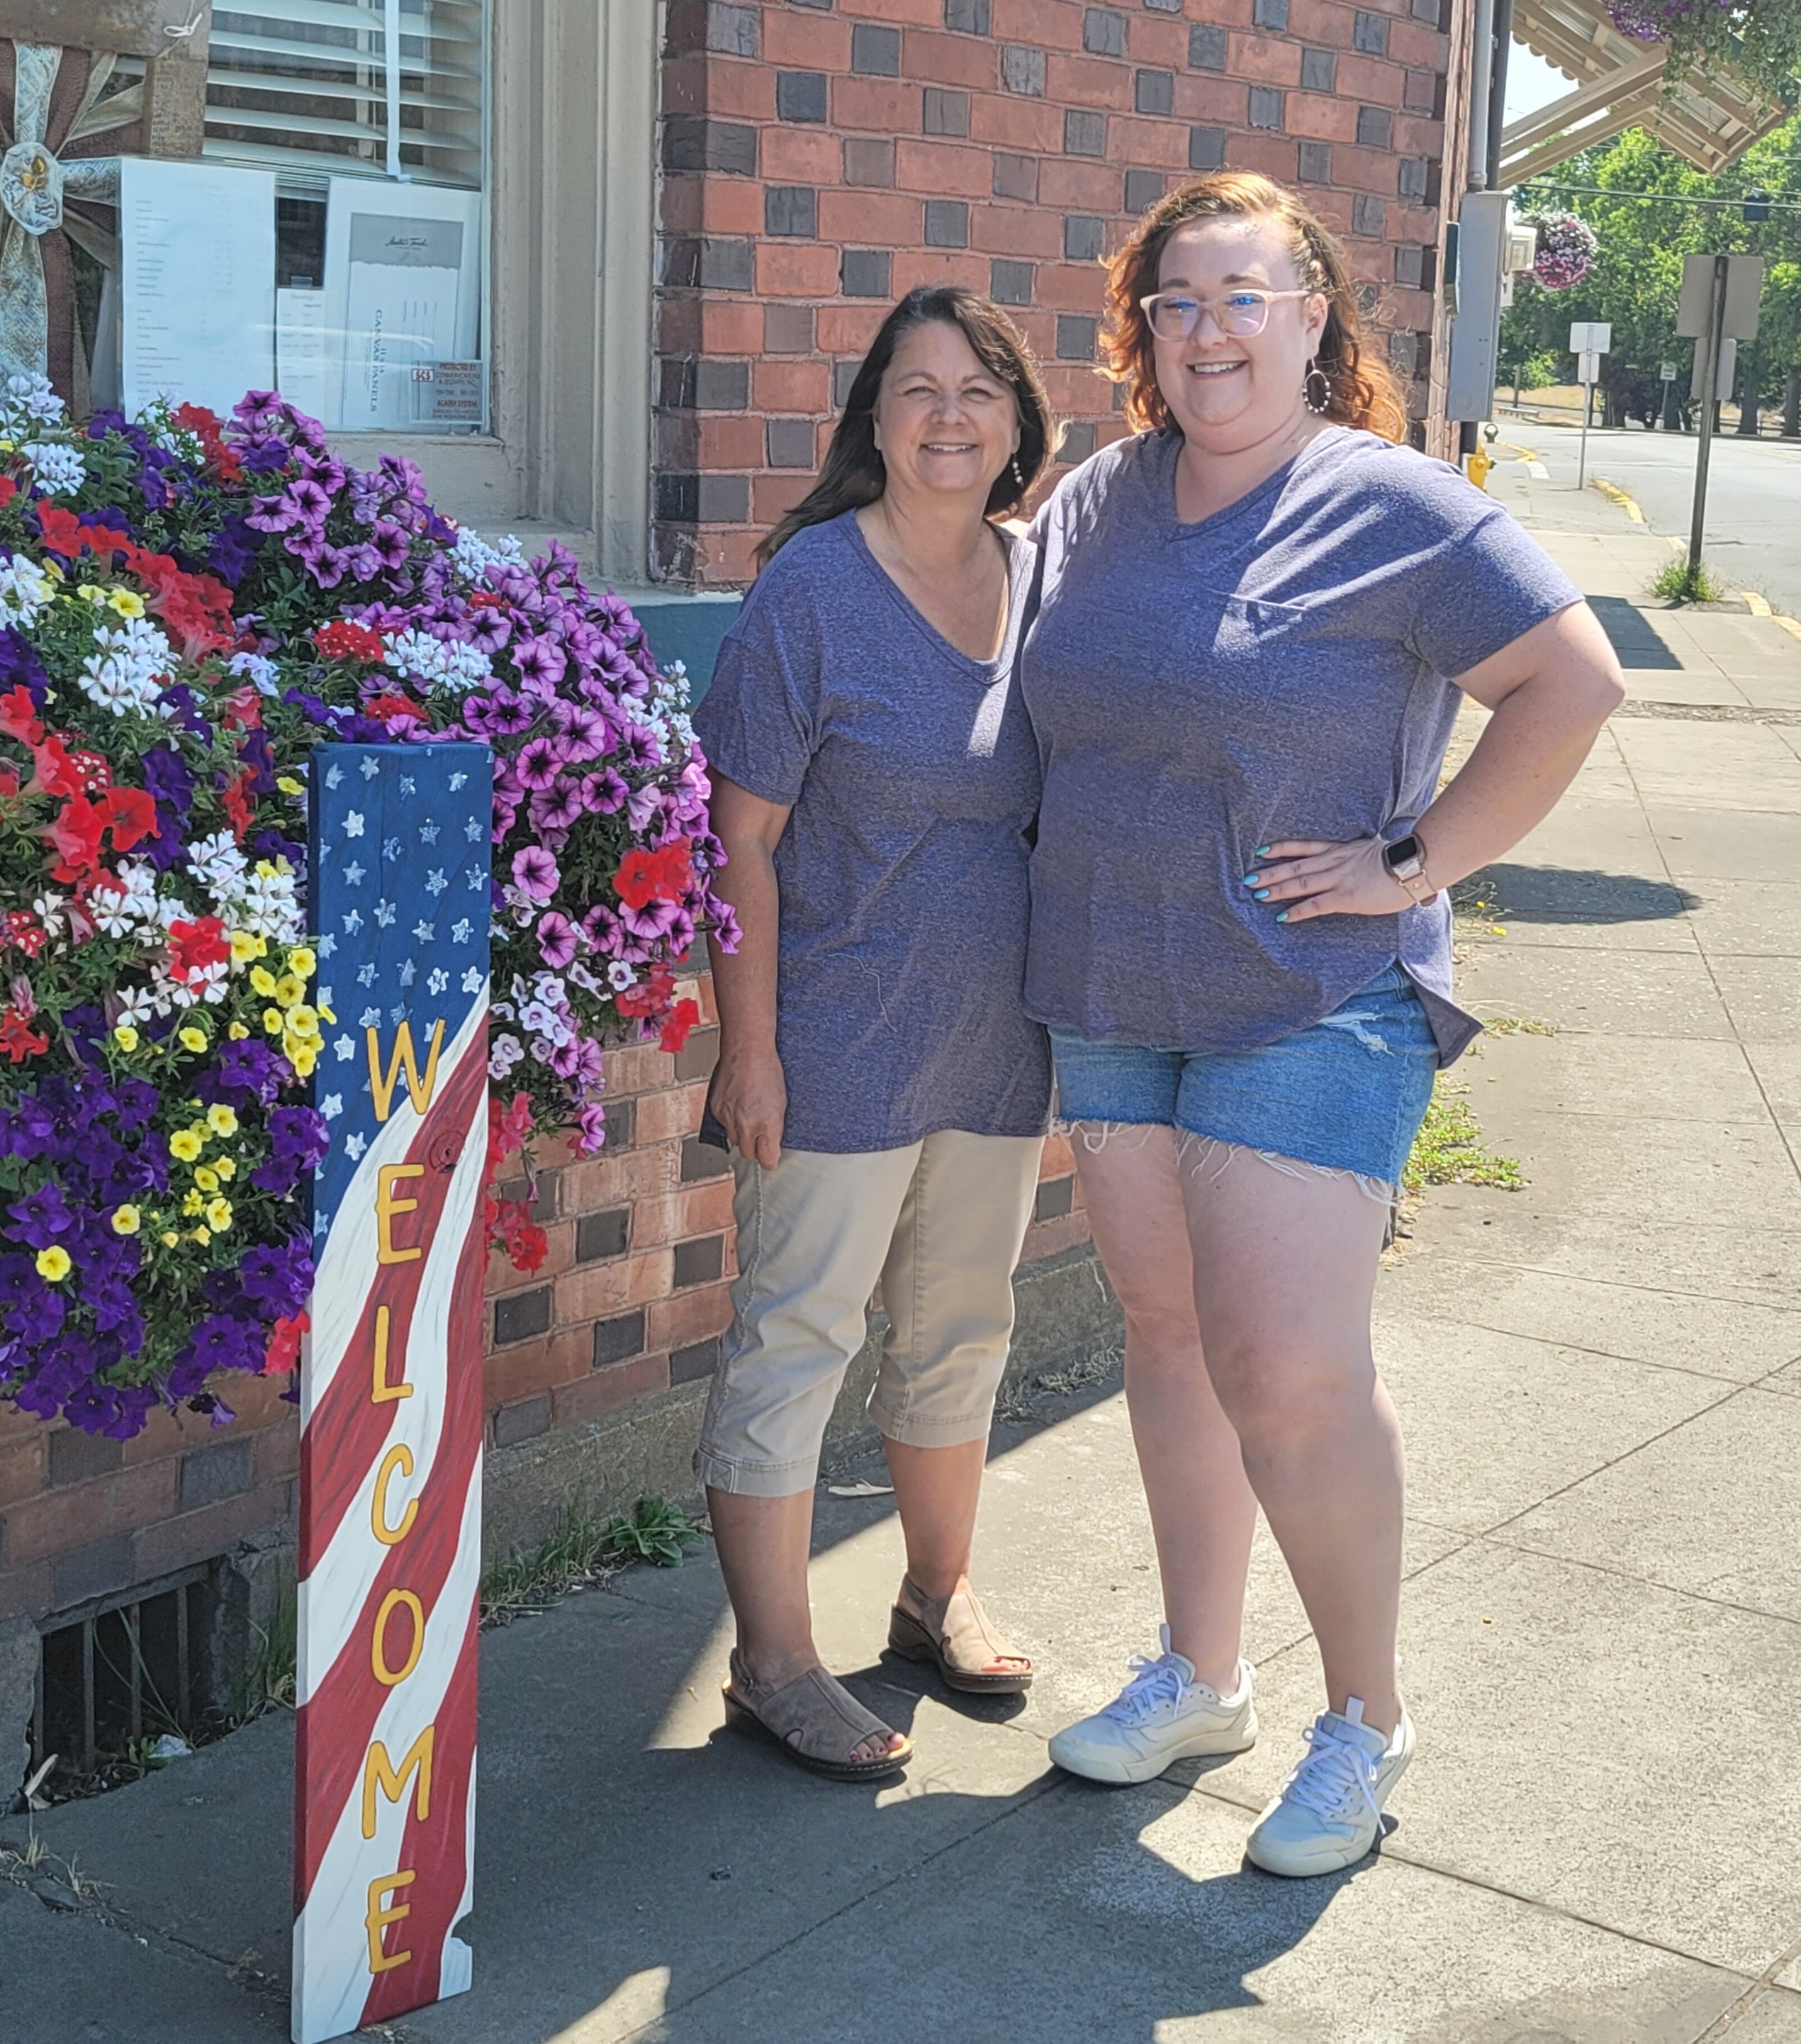
[[[1441,893],[1276,922],[1259,844],[1404,838],[1431,805],[1456,677],[1580,591],[1443,462],[1329,427],[1239,503],[1175,517],[1177,433],[1104,448],[1032,525],[1020,677],[1045,771],[1026,1010],[1090,1042],[1251,1051],[1396,961],[1449,1063]]]

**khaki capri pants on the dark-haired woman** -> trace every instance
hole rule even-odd
[[[869,1412],[889,1441],[981,1441],[1014,1331],[1012,1271],[1041,1136],[959,1128],[906,1149],[732,1159],[738,1280],[695,1474],[713,1490],[812,1490],[881,1280],[889,1329]]]

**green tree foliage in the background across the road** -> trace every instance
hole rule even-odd
[[[1601,192],[1568,190],[1570,184],[1603,186]],[[1779,202],[1768,221],[1748,223],[1740,200],[1764,190]],[[1611,192],[1660,192],[1670,198],[1719,198],[1723,206],[1668,204],[1613,198]],[[1511,380],[1515,362],[1543,376],[1541,358],[1556,356],[1548,382],[1572,382],[1576,358],[1568,352],[1570,321],[1605,319],[1613,325],[1613,352],[1603,364],[1615,407],[1644,415],[1662,397],[1658,364],[1680,366],[1678,390],[1689,392],[1693,341],[1676,339],[1676,296],[1682,258],[1701,251],[1760,253],[1766,262],[1762,325],[1756,347],[1740,347],[1742,376],[1754,378],[1758,399],[1781,397],[1791,366],[1801,362],[1801,121],[1789,121],[1717,178],[1691,170],[1644,129],[1570,157],[1562,172],[1523,186],[1519,211],[1566,206],[1601,239],[1595,268],[1574,290],[1543,290],[1525,282],[1500,321],[1500,362]],[[1521,376],[1525,384],[1525,374]]]

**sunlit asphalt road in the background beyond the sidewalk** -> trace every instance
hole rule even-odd
[[[1574,425],[1500,417],[1503,448],[1527,448],[1552,482],[1576,486]],[[1637,499],[1652,531],[1689,538],[1695,435],[1615,427],[1588,433],[1588,480],[1605,476]],[[1729,589],[1756,589],[1801,617],[1801,439],[1719,433],[1707,466],[1707,562]]]

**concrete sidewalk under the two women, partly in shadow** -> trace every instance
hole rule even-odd
[[[1378,1294],[1411,1447],[1421,1752],[1380,1858],[1241,1862],[1319,1707],[1267,1543],[1263,1744],[1145,1788],[1045,1737],[1155,1639],[1114,1378],[996,1437],[983,1582],[1022,1707],[883,1662],[887,1498],[820,1498],[828,1660],[920,1744],[807,1780],[720,1729],[709,1558],[491,1633],[476,1989],[429,2044],[1793,2044],[1801,2040],[1801,642],[1640,611],[1664,542],[1496,495],[1644,650],[1466,938],[1460,1067],[1523,1192],[1431,1192]],[[1633,634],[1642,634],[1633,638]],[[1466,734],[1468,736],[1468,734]],[[98,1903],[0,1880],[0,2044],[284,2034],[288,1725],[41,1819]],[[0,1823],[18,1844],[22,1823]]]

